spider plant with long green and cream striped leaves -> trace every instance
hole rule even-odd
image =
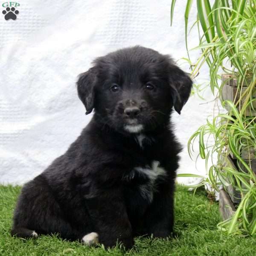
[[[171,25],[175,2],[172,0]],[[189,155],[191,157],[193,144],[198,138],[199,155],[205,159],[208,172],[204,182],[209,182],[217,191],[221,184],[232,185],[241,193],[236,212],[219,223],[218,228],[228,233],[253,235],[256,233],[256,173],[252,168],[252,161],[256,158],[256,99],[253,98],[256,90],[256,0],[196,1],[198,13],[193,26],[198,28],[199,43],[194,50],[199,49],[201,55],[195,63],[188,50],[188,19],[192,4],[193,0],[187,0],[185,10],[187,60],[191,75],[195,78],[201,67],[208,65],[209,86],[216,100],[220,100],[228,112],[212,115],[192,134],[188,142]],[[222,73],[237,80],[233,101],[223,97],[225,81],[221,81]],[[209,143],[209,137],[214,143]],[[243,152],[248,152],[249,159],[243,159]],[[209,161],[216,153],[217,163]],[[236,159],[237,168],[230,163],[230,154]]]

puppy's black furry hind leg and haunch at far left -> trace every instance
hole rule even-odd
[[[59,233],[64,239],[81,239],[81,233],[64,218],[64,212],[41,177],[27,183],[14,214],[12,235],[22,238]]]

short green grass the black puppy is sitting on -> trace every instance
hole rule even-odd
[[[40,236],[23,240],[11,237],[12,214],[20,187],[0,186],[0,255],[256,255],[256,236],[227,236],[218,231],[221,220],[218,204],[210,203],[204,191],[195,197],[185,187],[177,186],[175,196],[175,233],[173,239],[135,239],[132,250],[124,253],[120,246],[105,250],[103,247],[88,248],[79,242],[63,241],[58,236]]]

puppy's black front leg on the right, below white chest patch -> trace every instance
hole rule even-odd
[[[174,183],[161,185],[145,214],[144,230],[150,236],[166,238],[173,231],[174,222]]]

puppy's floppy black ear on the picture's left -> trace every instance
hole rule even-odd
[[[77,92],[79,99],[86,108],[86,115],[91,113],[94,108],[94,86],[96,84],[96,67],[90,68],[87,72],[81,73],[77,81]]]

